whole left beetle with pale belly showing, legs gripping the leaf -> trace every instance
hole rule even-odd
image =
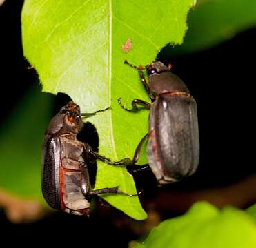
[[[118,187],[95,190],[91,188],[89,161],[99,158],[110,165],[123,165],[128,161],[111,161],[77,139],[77,134],[84,125],[82,117],[105,110],[81,114],[79,105],[70,101],[50,121],[43,141],[41,180],[43,196],[50,207],[88,216],[90,197],[93,195],[113,193],[137,196],[121,192]]]

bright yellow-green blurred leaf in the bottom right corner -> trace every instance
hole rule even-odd
[[[139,246],[140,245],[140,246]],[[140,248],[141,244],[134,248]],[[145,248],[253,248],[256,225],[246,212],[209,203],[195,203],[183,216],[165,220],[152,229]]]

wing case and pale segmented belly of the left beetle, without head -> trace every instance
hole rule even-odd
[[[72,214],[88,214],[90,203],[81,192],[83,143],[70,134],[50,136],[43,151],[42,191],[47,203]]]

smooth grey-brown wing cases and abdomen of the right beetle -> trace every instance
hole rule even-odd
[[[180,180],[195,172],[199,133],[197,104],[192,96],[160,94],[152,103],[148,161],[159,183]]]

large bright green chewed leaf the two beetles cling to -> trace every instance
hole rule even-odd
[[[23,50],[43,91],[69,94],[83,112],[112,107],[90,118],[99,134],[100,154],[114,161],[133,157],[148,132],[148,111],[125,112],[117,99],[121,97],[124,105],[149,99],[136,70],[124,60],[146,65],[166,43],[181,44],[192,4],[193,0],[25,1]],[[146,163],[145,151],[140,161]],[[136,192],[125,168],[99,162],[96,188],[117,185],[124,192]],[[146,218],[137,197],[103,197],[132,218]]]

